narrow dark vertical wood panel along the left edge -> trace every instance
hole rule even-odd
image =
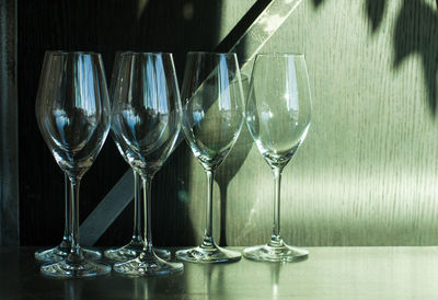
[[[16,0],[0,2],[0,245],[18,245]]]

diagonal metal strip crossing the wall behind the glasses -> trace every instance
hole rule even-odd
[[[267,3],[266,1],[257,1],[242,18],[243,22],[239,22],[218,45],[217,50],[237,53],[242,72],[249,73],[250,66],[252,66],[250,62],[301,1],[273,0]],[[251,18],[260,11],[261,13],[253,21]],[[252,21],[250,26],[247,26],[249,20]],[[242,26],[244,26],[243,30]],[[240,34],[241,32],[243,34]],[[239,35],[235,38],[237,34]],[[181,140],[180,138],[178,141]],[[132,200],[132,186],[131,171],[127,171],[81,224],[80,234],[83,245],[93,245]]]

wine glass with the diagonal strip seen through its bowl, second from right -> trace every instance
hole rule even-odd
[[[183,131],[207,174],[203,243],[176,252],[193,263],[239,261],[239,252],[219,247],[212,238],[214,173],[234,146],[243,124],[243,90],[235,54],[188,53],[182,90]]]

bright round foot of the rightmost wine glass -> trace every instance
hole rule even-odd
[[[246,247],[243,256],[261,262],[300,262],[309,257],[309,251],[288,246],[281,242],[279,246],[266,244]]]

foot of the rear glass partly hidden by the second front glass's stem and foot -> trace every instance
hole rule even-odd
[[[108,249],[104,252],[104,256],[108,259],[115,262],[126,262],[129,259],[134,259],[141,254],[143,251],[143,244],[137,241],[131,241],[130,243],[122,246],[122,247],[114,247]],[[153,249],[153,252],[163,259],[171,258],[171,252],[165,249]]]

